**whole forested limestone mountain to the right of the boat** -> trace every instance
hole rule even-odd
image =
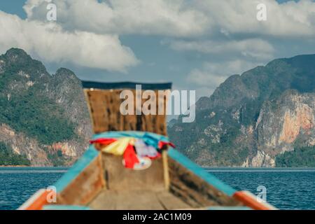
[[[200,165],[274,167],[276,157],[314,146],[315,55],[276,59],[230,76],[197,102],[196,121],[169,127]]]

